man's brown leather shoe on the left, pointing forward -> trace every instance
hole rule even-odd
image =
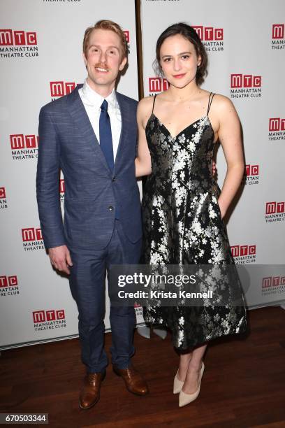
[[[80,391],[80,408],[90,408],[99,401],[101,382],[104,380],[105,376],[106,371],[87,373],[84,378],[82,390]]]

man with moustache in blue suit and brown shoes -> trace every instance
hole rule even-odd
[[[115,91],[127,62],[124,32],[102,20],[85,31],[84,85],[41,109],[37,171],[38,211],[55,269],[69,275],[78,305],[82,361],[87,375],[80,408],[99,399],[108,359],[104,345],[105,271],[136,264],[141,248],[140,196],[135,178],[137,102]],[[64,173],[64,224],[59,202]],[[131,364],[134,308],[110,308],[112,364],[126,388],[148,392]]]

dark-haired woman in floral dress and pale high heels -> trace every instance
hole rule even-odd
[[[207,55],[189,25],[174,24],[163,31],[156,43],[156,66],[169,88],[138,105],[136,176],[148,175],[142,201],[144,262],[233,265],[222,219],[244,173],[238,114],[228,98],[199,87]],[[218,139],[227,163],[221,191],[212,176]],[[180,350],[173,387],[174,393],[180,392],[180,406],[198,397],[207,341],[246,328],[236,274],[226,292],[224,306],[148,305],[145,310],[145,321],[169,327]],[[240,306],[232,304],[232,294],[239,294]]]

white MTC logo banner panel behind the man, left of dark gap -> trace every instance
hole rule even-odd
[[[138,99],[138,72],[133,0],[9,0],[0,8],[0,348],[6,348],[78,334],[68,280],[52,270],[38,220],[39,110],[84,82],[83,36],[98,20],[118,22],[129,43],[129,68],[117,90]],[[63,208],[64,177],[59,189]],[[109,329],[108,296],[106,302]]]

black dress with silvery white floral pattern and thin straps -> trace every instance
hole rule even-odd
[[[144,264],[234,265],[218,205],[220,190],[212,176],[214,131],[208,113],[213,97],[210,94],[207,115],[175,138],[154,110],[149,117],[145,132],[152,173],[142,198]],[[180,350],[241,333],[247,327],[247,316],[238,274],[230,280],[225,276],[222,288],[228,299],[222,306],[165,307],[149,302],[144,308],[145,322],[168,327],[173,345]],[[231,304],[237,292],[239,306]]]

